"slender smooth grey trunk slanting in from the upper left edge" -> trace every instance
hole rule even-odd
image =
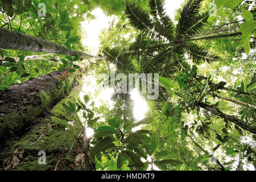
[[[35,38],[30,35],[20,34],[19,32],[14,32],[6,30],[0,27],[0,48],[3,49],[15,49],[20,51],[34,51],[34,52],[48,52],[57,53],[66,56],[76,56],[89,57],[92,59],[103,60],[102,57],[92,56],[88,53],[81,51],[76,51],[72,49],[69,51],[65,46],[61,44],[49,42],[48,40]]]

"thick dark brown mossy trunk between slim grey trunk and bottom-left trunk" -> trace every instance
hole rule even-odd
[[[22,137],[35,124],[38,115],[65,97],[64,85],[68,82],[71,88],[88,71],[85,66],[75,73],[68,72],[69,69],[13,84],[10,89],[0,91],[0,148],[11,146],[14,140]]]

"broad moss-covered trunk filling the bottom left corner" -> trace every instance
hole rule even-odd
[[[71,113],[64,109],[68,102],[75,103],[79,97],[79,84],[68,97],[45,111],[34,120],[35,125],[15,142],[9,151],[2,152],[0,169],[4,170],[95,170],[90,158],[90,147],[83,141],[82,126]],[[39,151],[46,154],[46,163]]]

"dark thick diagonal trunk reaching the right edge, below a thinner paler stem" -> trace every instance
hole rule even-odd
[[[240,126],[244,130],[250,131],[250,133],[256,134],[256,127],[253,126],[253,124],[240,121],[240,119],[234,117],[233,115],[228,115],[228,114],[222,113],[215,106],[204,104],[202,102],[196,102],[196,105],[202,107],[203,109],[205,109],[207,111],[210,111],[211,113],[213,113],[214,115],[217,115],[218,117],[226,119],[229,122],[232,122],[237,126]]]

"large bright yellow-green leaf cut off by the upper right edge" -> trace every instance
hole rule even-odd
[[[249,52],[250,52],[250,38],[255,27],[256,27],[256,20],[251,20],[251,21],[242,23],[240,27],[240,30],[242,32],[241,44],[245,49],[245,52],[247,53],[247,55],[249,55]]]

